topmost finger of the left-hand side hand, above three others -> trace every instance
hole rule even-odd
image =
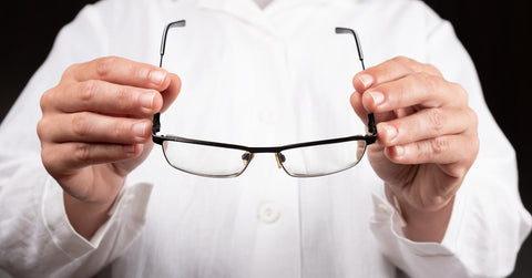
[[[83,82],[103,80],[110,83],[136,87],[165,90],[171,78],[168,72],[153,64],[140,63],[119,56],[106,56],[70,66],[63,80]]]

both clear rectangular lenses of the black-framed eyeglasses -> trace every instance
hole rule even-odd
[[[188,142],[165,141],[166,161],[181,171],[212,177],[237,176],[247,167],[253,154]],[[337,173],[355,166],[366,151],[366,141],[348,141],[284,150],[279,163],[291,176],[310,177]]]

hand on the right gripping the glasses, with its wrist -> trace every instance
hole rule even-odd
[[[368,157],[387,194],[400,204],[410,228],[407,236],[440,241],[454,195],[479,150],[468,94],[434,66],[407,58],[356,74],[354,86],[357,114],[367,119],[375,113],[377,144]],[[439,220],[438,233],[427,230],[433,220]]]

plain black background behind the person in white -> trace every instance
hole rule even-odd
[[[393,1],[393,0],[391,0]],[[19,0],[2,8],[1,37],[3,89],[0,119],[44,61],[59,29],[79,10],[95,0]],[[485,100],[499,125],[518,153],[520,192],[532,210],[532,155],[529,83],[532,73],[532,9],[530,0],[426,0],[442,18],[450,20],[473,61]],[[493,239],[493,240],[497,240]],[[512,277],[532,277],[532,239],[529,238]]]

